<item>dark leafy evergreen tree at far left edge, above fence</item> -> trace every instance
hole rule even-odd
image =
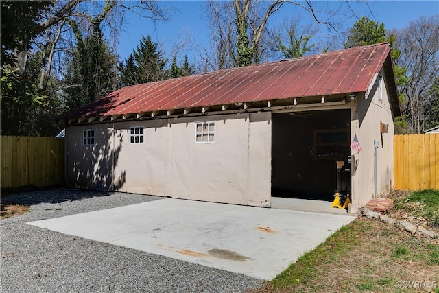
[[[1,1],[1,134],[24,134],[27,113],[46,97],[25,74],[27,51],[43,31],[38,20],[51,1]],[[25,113],[25,115],[22,115]]]

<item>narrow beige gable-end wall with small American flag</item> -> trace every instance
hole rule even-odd
[[[381,75],[381,90],[379,89]],[[375,194],[374,141],[379,141],[377,159],[377,195],[381,196],[394,187],[393,183],[393,137],[394,124],[386,81],[383,72],[375,77],[371,89],[359,94],[351,102],[351,139],[357,134],[361,152],[352,150],[352,207],[355,212]],[[381,134],[380,121],[388,125],[388,132]]]

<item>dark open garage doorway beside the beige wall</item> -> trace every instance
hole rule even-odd
[[[332,201],[350,191],[350,110],[272,115],[272,196]]]

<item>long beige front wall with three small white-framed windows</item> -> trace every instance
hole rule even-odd
[[[215,143],[195,143],[207,121]],[[130,143],[131,126],[144,127],[144,143]],[[95,145],[81,145],[84,129]],[[270,207],[271,113],[71,126],[67,137],[71,186]]]

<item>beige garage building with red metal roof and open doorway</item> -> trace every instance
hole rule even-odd
[[[382,43],[119,89],[62,117],[67,185],[350,212],[393,188],[399,99]]]

